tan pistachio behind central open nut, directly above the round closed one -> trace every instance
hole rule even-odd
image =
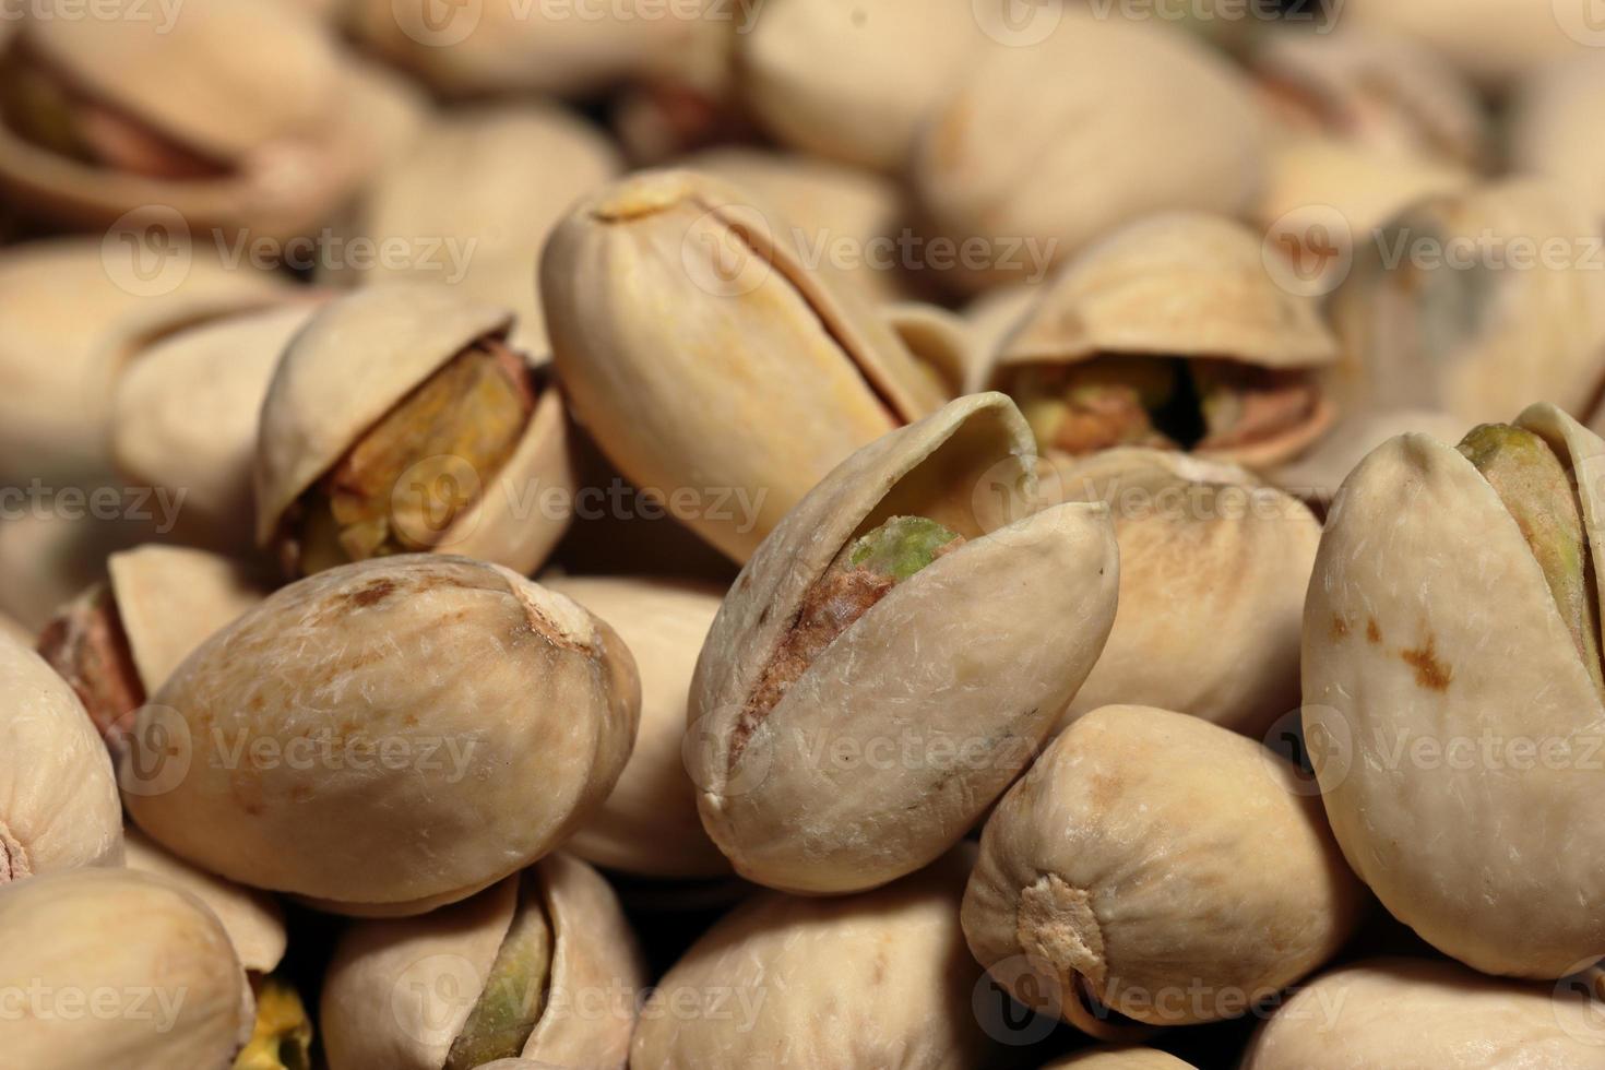
[[[1175,709],[1255,740],[1298,709],[1298,627],[1321,523],[1255,476],[1159,449],[1054,459],[1063,501],[1107,502],[1120,608],[1066,723]]]

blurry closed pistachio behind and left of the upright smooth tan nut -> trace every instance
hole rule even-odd
[[[396,263],[340,265],[329,282],[445,282],[462,300],[517,311],[510,345],[546,358],[546,319],[530,284],[546,237],[570,205],[621,168],[618,151],[555,104],[445,112],[351,209],[350,237],[408,252]]]

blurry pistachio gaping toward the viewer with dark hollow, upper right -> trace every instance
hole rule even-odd
[[[1281,287],[1245,226],[1209,215],[1133,223],[1066,266],[982,382],[1040,449],[1186,449],[1263,468],[1331,427],[1319,371],[1337,345]]]

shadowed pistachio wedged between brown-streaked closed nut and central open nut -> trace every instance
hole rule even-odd
[[[640,671],[640,732],[613,794],[565,844],[599,866],[650,877],[717,877],[730,871],[697,817],[685,776],[685,695],[722,587],[623,576],[554,576],[567,595],[620,637]]]

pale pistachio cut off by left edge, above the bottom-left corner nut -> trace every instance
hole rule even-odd
[[[32,650],[0,638],[0,889],[120,863],[111,759],[77,695]]]

